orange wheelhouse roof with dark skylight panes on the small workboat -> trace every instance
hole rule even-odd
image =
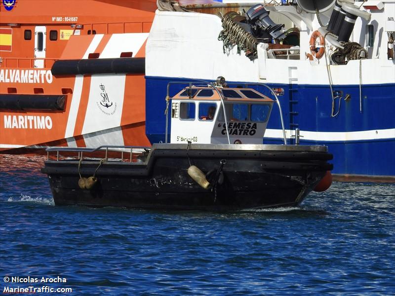
[[[238,87],[217,87],[217,89],[223,95],[224,101],[228,102],[274,102],[274,100],[269,97],[261,94],[253,88],[238,88]],[[212,90],[213,94],[211,96],[199,96],[201,90]],[[234,91],[239,96],[237,98],[229,96]],[[251,93],[252,92],[252,93]],[[254,98],[248,96],[247,94],[251,94],[255,96]],[[218,92],[212,88],[207,86],[188,86],[183,88],[180,92],[172,97],[173,100],[192,100],[192,101],[220,101],[221,98]]]

